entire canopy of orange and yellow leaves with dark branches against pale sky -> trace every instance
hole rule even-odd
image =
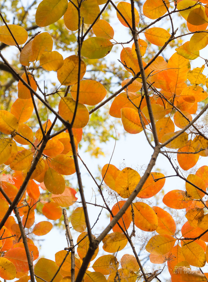
[[[15,65],[8,62],[8,52],[0,52],[1,70],[18,81],[11,82],[14,101],[0,110],[0,277],[21,282],[161,281],[163,267],[153,273],[143,269],[141,246],[134,241],[135,232],[141,230],[149,238],[143,246],[146,258],[165,263],[171,281],[207,281],[208,273],[201,267],[208,258],[208,166],[193,169],[187,177],[184,171],[208,155],[208,137],[201,125],[208,108],[204,101],[208,80],[203,74],[208,61],[201,54],[202,65],[190,64],[208,44],[208,1],[43,0],[36,6],[35,2],[34,28],[24,21],[10,23],[10,17],[0,13],[1,50],[6,46],[18,50]],[[114,39],[113,24],[104,19],[109,11],[116,12],[117,22],[129,32],[128,42]],[[178,29],[182,21],[186,26]],[[55,37],[47,28],[54,23],[60,37],[62,32],[66,40],[74,36],[70,52],[60,51],[61,42],[53,48]],[[32,29],[37,33],[28,37]],[[89,79],[86,70],[98,62],[104,65],[118,45],[122,51],[114,57],[128,79],[110,93],[102,83],[108,79],[102,65],[101,79],[96,74]],[[173,55],[164,59],[168,50]],[[54,78],[53,92],[38,83],[38,70]],[[97,182],[86,165],[101,195],[99,202],[86,203],[89,190],[82,184],[78,144],[85,134],[93,134],[89,123],[96,112],[105,114],[106,123],[111,117],[121,119],[129,134],[144,131],[143,142],[153,153],[142,175],[107,163],[103,180]],[[171,174],[155,171],[160,155],[170,163]],[[78,207],[76,187],[66,185],[73,174],[81,197]],[[167,177],[180,178],[184,185],[164,195],[161,189]],[[106,201],[103,181],[116,195],[113,205]],[[151,206],[149,199],[155,196],[167,208]],[[94,205],[98,221],[100,211],[109,214],[98,235],[89,204]],[[70,221],[69,209],[63,209],[69,206]],[[172,216],[176,210],[183,211],[185,224],[177,224]],[[37,212],[42,213],[40,222]],[[68,247],[55,253],[54,260],[39,258],[37,236],[50,232],[53,224],[48,219],[53,222],[62,213]],[[77,242],[70,227],[79,233]],[[130,254],[125,252],[127,245]],[[120,250],[125,254],[118,260]]]

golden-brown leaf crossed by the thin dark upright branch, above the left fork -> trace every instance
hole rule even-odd
[[[59,114],[65,120],[72,121],[76,102],[70,97],[63,97],[59,102]],[[78,103],[75,120],[73,123],[74,128],[82,128],[87,125],[89,120],[89,112],[86,106]]]

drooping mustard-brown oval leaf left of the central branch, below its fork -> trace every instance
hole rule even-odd
[[[61,174],[49,167],[45,172],[44,184],[46,189],[53,194],[62,194],[65,189],[65,181]]]

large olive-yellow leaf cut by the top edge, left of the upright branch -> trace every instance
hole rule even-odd
[[[55,23],[64,15],[67,7],[67,0],[42,0],[36,10],[36,24],[49,26],[51,23]]]

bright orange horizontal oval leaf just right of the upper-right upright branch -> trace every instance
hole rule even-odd
[[[170,38],[170,33],[161,27],[151,27],[144,32],[146,39],[157,46],[163,46]]]

